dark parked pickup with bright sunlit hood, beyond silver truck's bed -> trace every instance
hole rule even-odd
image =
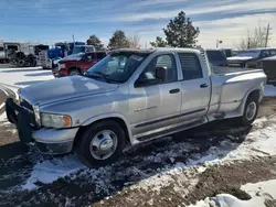
[[[276,48],[253,48],[229,57],[227,62],[230,67],[257,68],[259,59],[274,55],[276,55]]]

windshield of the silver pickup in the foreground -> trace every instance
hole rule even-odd
[[[92,66],[85,76],[104,81],[125,83],[148,55],[136,52],[114,53]]]

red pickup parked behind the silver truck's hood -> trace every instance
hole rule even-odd
[[[106,52],[89,52],[78,54],[74,59],[61,59],[59,67],[53,69],[53,75],[54,77],[82,75],[105,56]]]

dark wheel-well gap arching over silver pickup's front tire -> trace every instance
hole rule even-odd
[[[95,124],[97,122],[110,121],[110,120],[120,124],[121,129],[124,130],[124,132],[126,134],[126,142],[130,143],[129,133],[128,133],[127,126],[126,126],[125,121],[123,119],[120,119],[120,118],[114,117],[114,118],[99,119],[97,121],[92,122],[88,126],[81,127],[79,130],[76,133],[76,137],[75,137],[76,139],[74,140],[74,146],[76,145],[77,138],[79,138],[88,127],[91,127],[92,124]]]

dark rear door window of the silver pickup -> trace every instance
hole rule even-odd
[[[178,53],[183,73],[183,80],[203,78],[200,59],[194,53]]]

